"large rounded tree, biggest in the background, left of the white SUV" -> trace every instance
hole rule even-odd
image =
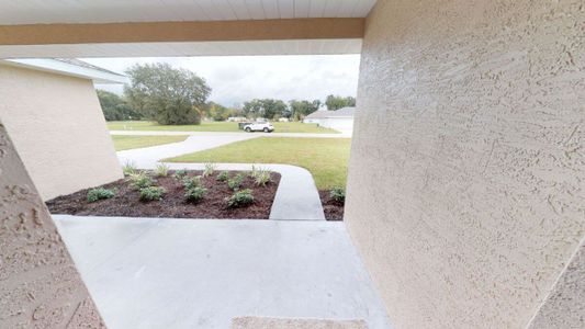
[[[201,123],[201,109],[211,93],[203,78],[168,64],[135,65],[126,71],[124,93],[135,111],[161,125]]]

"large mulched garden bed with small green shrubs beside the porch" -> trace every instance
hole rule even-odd
[[[268,219],[280,174],[252,171],[127,169],[125,179],[47,201],[53,214]]]

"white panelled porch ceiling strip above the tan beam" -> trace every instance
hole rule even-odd
[[[0,0],[0,24],[364,18],[375,0]]]

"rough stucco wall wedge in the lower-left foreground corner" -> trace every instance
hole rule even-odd
[[[1,124],[0,328],[104,328]]]

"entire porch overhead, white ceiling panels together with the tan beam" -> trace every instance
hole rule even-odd
[[[359,54],[375,0],[0,0],[0,58]]]

